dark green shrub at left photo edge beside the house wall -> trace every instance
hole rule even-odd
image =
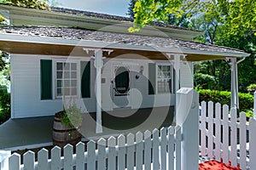
[[[0,124],[10,117],[10,94],[7,87],[0,85]]]

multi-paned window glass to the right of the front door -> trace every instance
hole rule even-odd
[[[157,92],[158,94],[172,92],[172,66],[171,65],[158,65]]]

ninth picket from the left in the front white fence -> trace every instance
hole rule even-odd
[[[116,139],[112,136],[108,139],[108,170],[116,169]]]

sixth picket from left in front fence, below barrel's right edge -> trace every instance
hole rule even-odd
[[[84,143],[79,142],[79,144],[76,145],[76,168],[79,170],[84,170]]]

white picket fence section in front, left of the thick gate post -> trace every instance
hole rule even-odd
[[[86,145],[87,151],[84,151],[82,142],[76,145],[76,153],[73,153],[73,146],[67,144],[64,156],[61,156],[61,148],[55,146],[50,151],[50,159],[48,150],[38,152],[38,161],[35,161],[34,152],[27,151],[21,165],[20,155],[15,153],[9,157],[9,169],[181,169],[181,139],[181,128],[178,126],[163,127],[160,131],[154,129],[152,133],[121,134],[118,138],[99,139],[97,142],[91,140]]]

